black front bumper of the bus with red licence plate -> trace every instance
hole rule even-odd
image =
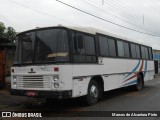
[[[65,91],[42,91],[42,90],[17,90],[11,89],[11,95],[28,96],[34,98],[71,98],[72,90]]]

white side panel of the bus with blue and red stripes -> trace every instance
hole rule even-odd
[[[75,64],[73,65],[73,78],[100,75],[104,81],[104,90],[112,90],[130,86],[137,83],[139,72],[145,73],[144,80],[150,80],[154,74],[153,61],[137,59],[103,58],[101,64]],[[87,93],[90,79],[83,83],[83,93]],[[78,82],[75,84],[79,84]],[[76,87],[75,87],[76,88]]]

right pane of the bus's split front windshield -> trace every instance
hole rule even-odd
[[[49,29],[37,32],[36,61],[68,59],[68,36],[65,30]]]

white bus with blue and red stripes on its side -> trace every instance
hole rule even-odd
[[[93,28],[48,27],[18,34],[11,95],[84,96],[97,103],[104,91],[141,90],[154,78],[152,48]]]

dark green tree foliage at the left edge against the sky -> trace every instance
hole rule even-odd
[[[12,27],[5,27],[5,25],[0,22],[0,38],[6,38],[10,41],[16,40],[16,31]]]

